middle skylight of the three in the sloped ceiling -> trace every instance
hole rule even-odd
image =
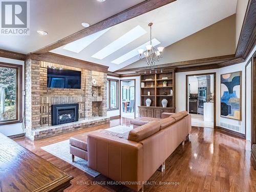
[[[95,53],[92,57],[96,59],[103,59],[114,53],[115,51],[121,49],[122,47],[126,46],[127,44],[130,44],[130,42],[134,41],[145,33],[146,31],[142,27],[137,26],[129,32],[125,33],[123,36],[116,39],[115,41],[111,42],[111,44],[109,44],[108,46]]]

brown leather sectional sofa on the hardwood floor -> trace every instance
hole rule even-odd
[[[150,179],[191,131],[191,116],[183,111],[154,119],[130,132],[97,130],[70,138],[70,153],[88,160],[88,166],[136,191]],[[131,121],[131,123],[134,123]]]

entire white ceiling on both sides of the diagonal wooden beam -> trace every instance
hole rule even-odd
[[[120,3],[121,2],[121,3]],[[30,36],[0,36],[0,49],[34,52],[130,8],[143,0],[33,0],[30,1]],[[150,40],[167,47],[236,13],[237,0],[177,0],[121,24],[71,42],[51,52],[121,69],[139,59],[137,49]],[[49,34],[40,36],[36,30]]]

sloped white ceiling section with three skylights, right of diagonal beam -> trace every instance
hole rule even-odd
[[[62,46],[51,52],[99,63],[109,66],[109,71],[116,71],[139,59],[137,49],[144,48],[150,40],[148,23],[153,22],[153,44],[167,47],[236,13],[236,5],[234,0],[178,0],[113,26],[90,45],[84,44],[78,53],[74,50],[83,39],[71,43],[73,51]],[[140,30],[131,33],[135,28]]]

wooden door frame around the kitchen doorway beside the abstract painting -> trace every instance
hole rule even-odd
[[[191,77],[191,76],[202,76],[202,75],[214,75],[214,129],[216,129],[216,72],[212,72],[212,73],[198,73],[198,74],[186,75],[186,111],[188,112],[188,105],[187,105],[187,103],[188,103],[188,97],[187,97],[188,77]]]

